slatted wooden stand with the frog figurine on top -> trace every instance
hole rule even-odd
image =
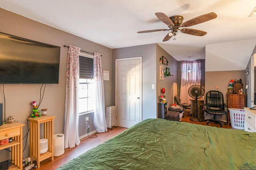
[[[47,158],[53,161],[54,145],[53,145],[53,119],[56,116],[42,116],[36,118],[28,118],[29,120],[29,141],[30,141],[30,158],[36,160],[36,166],[40,168],[40,162]],[[44,123],[44,138],[48,139],[48,151],[40,154],[40,123]]]

